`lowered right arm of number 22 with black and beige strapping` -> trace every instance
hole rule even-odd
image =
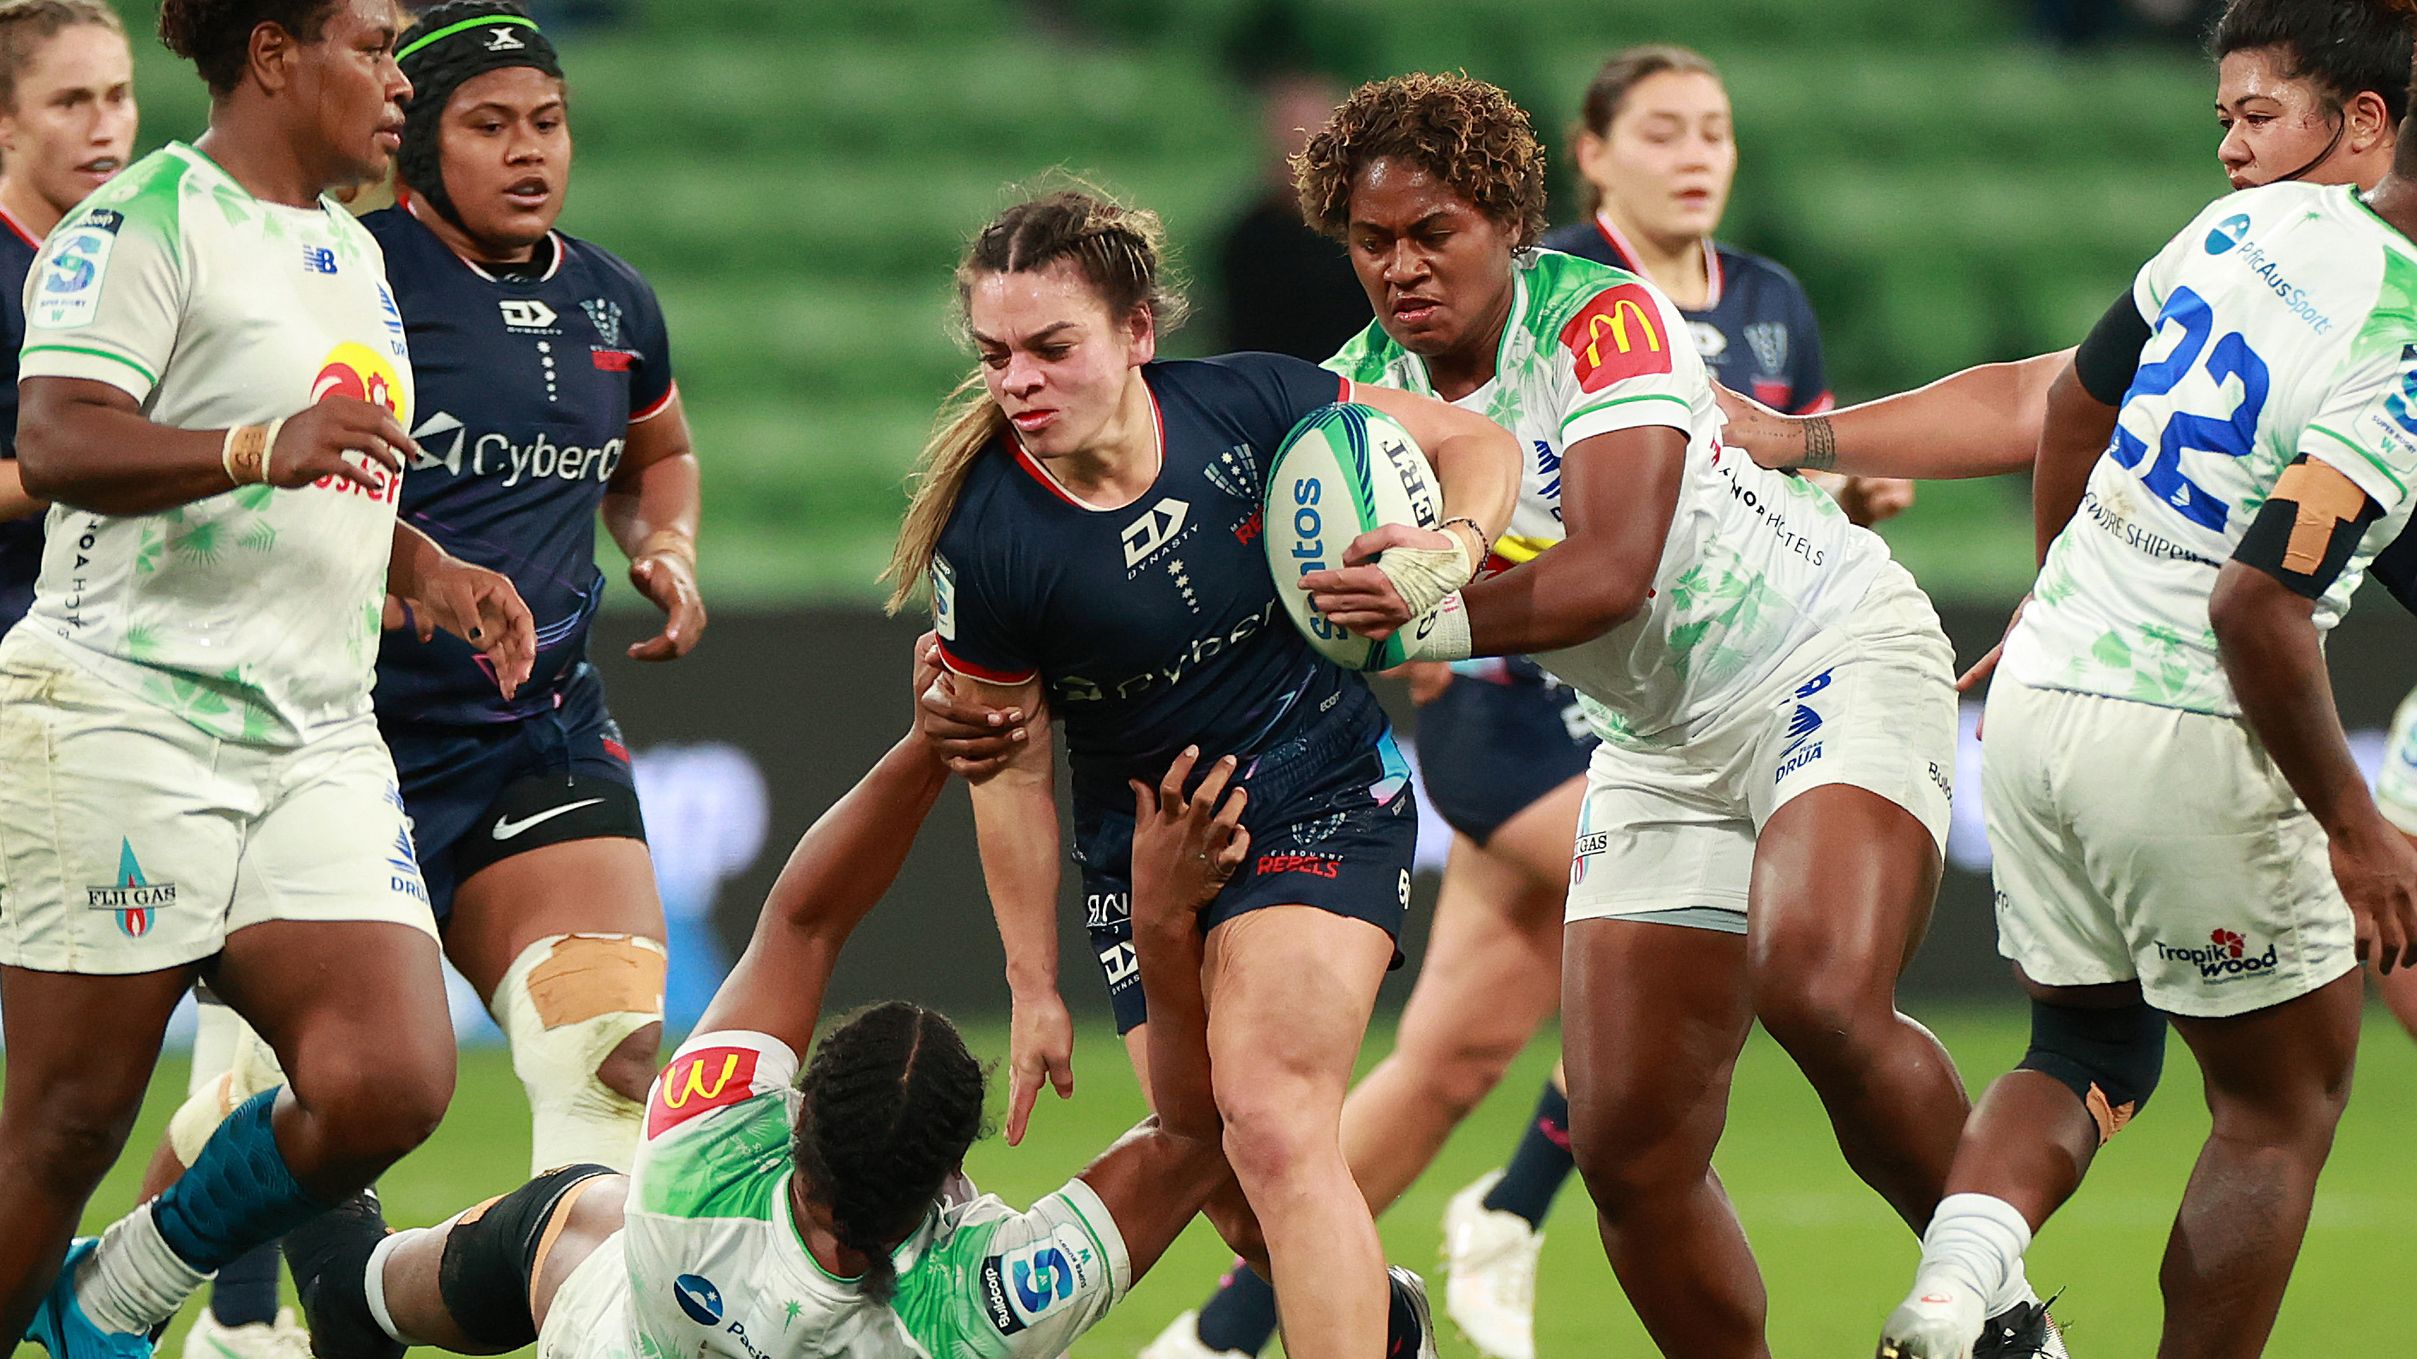
[[[2390,972],[2417,962],[2417,849],[2383,817],[2349,754],[2313,621],[2315,600],[2376,513],[2340,472],[2313,459],[2291,464],[2216,576],[2207,619],[2241,718],[2325,827],[2359,958]]]

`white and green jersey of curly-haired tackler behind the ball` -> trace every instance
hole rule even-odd
[[[1528,450],[1511,532],[1496,544],[1503,561],[1561,542],[1569,447],[1644,426],[1687,435],[1687,479],[1644,617],[1537,658],[1588,699],[1607,742],[1670,745],[1851,614],[1888,566],[1888,547],[1820,488],[1721,445],[1704,360],[1651,283],[1559,251],[1520,251],[1513,288],[1494,382],[1455,401]],[[1426,363],[1375,324],[1327,368],[1433,392]]]

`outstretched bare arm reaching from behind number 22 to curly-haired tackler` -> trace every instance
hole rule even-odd
[[[1948,481],[2025,472],[2040,443],[2047,387],[2074,351],[1982,363],[1917,387],[1815,416],[1789,416],[1714,384],[1728,426],[1721,443],[1781,472],[1844,472]]]

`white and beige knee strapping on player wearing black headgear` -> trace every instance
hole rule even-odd
[[[529,1093],[529,1173],[580,1161],[631,1168],[645,1105],[604,1086],[597,1066],[662,1023],[665,965],[653,938],[553,933],[505,970],[491,1008]]]

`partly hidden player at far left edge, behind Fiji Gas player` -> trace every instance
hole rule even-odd
[[[135,58],[102,0],[0,2],[0,634],[34,607],[41,515],[17,474],[17,346],[41,237],[126,167]]]

